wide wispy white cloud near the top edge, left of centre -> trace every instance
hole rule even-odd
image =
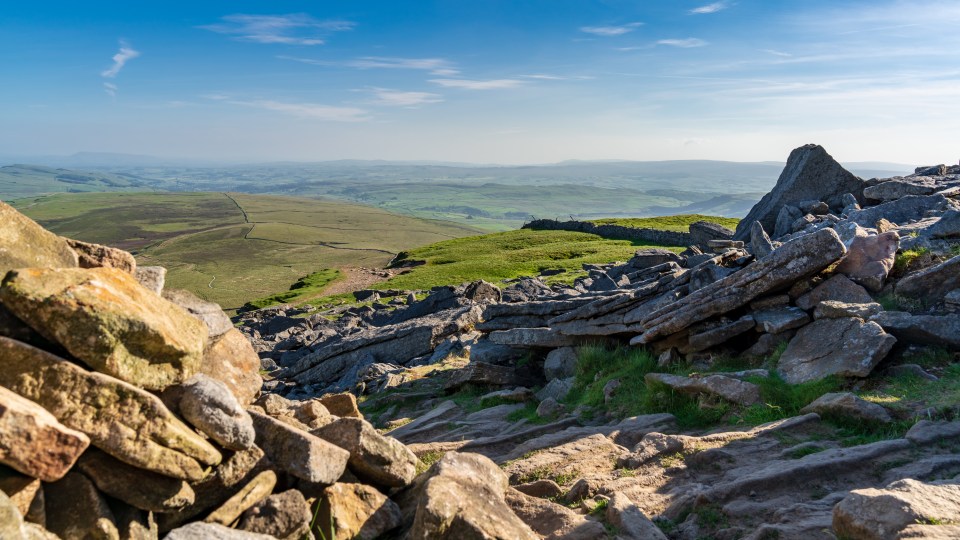
[[[323,45],[333,32],[352,30],[350,21],[319,20],[305,13],[288,15],[227,15],[222,22],[201,26],[218,34],[237,36],[242,41],[282,45]]]

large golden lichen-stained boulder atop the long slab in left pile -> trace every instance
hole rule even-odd
[[[0,301],[87,365],[143,388],[186,380],[203,359],[203,324],[122,270],[15,270]]]

